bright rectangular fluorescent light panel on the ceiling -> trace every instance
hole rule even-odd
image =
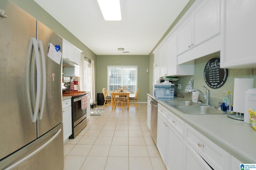
[[[120,21],[121,7],[120,0],[97,0],[102,15],[106,21]]]

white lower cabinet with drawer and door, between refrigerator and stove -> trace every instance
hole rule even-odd
[[[63,119],[63,141],[66,143],[68,137],[72,135],[72,108],[71,99],[62,101],[62,119]]]

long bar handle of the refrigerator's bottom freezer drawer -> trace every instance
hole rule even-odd
[[[36,149],[34,152],[30,153],[28,156],[22,158],[21,160],[19,160],[18,162],[12,164],[11,166],[9,166],[8,168],[6,168],[5,170],[11,170],[13,168],[15,168],[16,166],[18,166],[19,164],[21,164],[22,162],[28,160],[29,158],[31,158],[32,156],[36,155],[38,152],[40,152],[40,150],[44,149],[45,147],[47,147],[50,143],[52,143],[52,141],[54,141],[54,139],[56,139],[56,137],[58,137],[58,135],[60,135],[62,129],[59,129],[55,135],[49,139],[49,141],[47,141],[44,145],[42,145],[41,147],[39,147],[38,149]]]

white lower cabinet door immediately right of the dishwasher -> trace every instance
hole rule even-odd
[[[156,147],[164,164],[166,164],[166,126],[166,120],[158,113]]]

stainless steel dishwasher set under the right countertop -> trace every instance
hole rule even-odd
[[[151,104],[151,119],[150,119],[150,133],[156,144],[156,136],[157,136],[157,102],[153,99],[150,99]]]

